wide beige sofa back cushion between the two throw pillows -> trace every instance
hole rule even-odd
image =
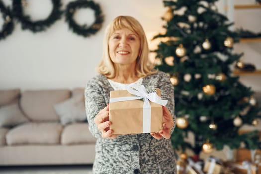
[[[53,105],[70,95],[69,90],[25,91],[21,96],[21,109],[33,121],[59,121]]]

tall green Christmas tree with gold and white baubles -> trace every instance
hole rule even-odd
[[[232,73],[243,53],[233,53],[239,35],[233,23],[219,13],[217,0],[163,1],[168,8],[162,17],[165,33],[156,53],[156,67],[168,73],[174,85],[177,128],[172,134],[176,150],[199,154],[231,149],[261,147],[258,132],[239,134],[243,124],[257,125],[261,118],[253,91]],[[188,132],[194,143],[186,142]]]

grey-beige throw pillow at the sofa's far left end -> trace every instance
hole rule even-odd
[[[18,103],[14,103],[0,108],[0,127],[15,126],[29,120],[23,115]]]

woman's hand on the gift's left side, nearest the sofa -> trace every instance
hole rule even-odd
[[[97,128],[101,131],[102,138],[114,139],[117,135],[112,135],[110,130],[111,122],[109,121],[109,105],[102,109],[95,117],[94,122]]]

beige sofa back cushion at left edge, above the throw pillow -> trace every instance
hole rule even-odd
[[[0,106],[17,102],[19,96],[20,89],[0,90]]]

